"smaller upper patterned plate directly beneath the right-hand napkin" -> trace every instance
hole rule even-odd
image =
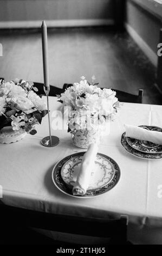
[[[162,128],[157,126],[140,125],[139,127],[142,127],[143,129],[146,129],[148,131],[162,132]],[[134,139],[129,137],[126,137],[126,140],[132,148],[138,151],[141,151],[143,153],[149,153],[149,154],[162,153],[162,145],[154,144],[148,141],[140,141],[139,139]]]

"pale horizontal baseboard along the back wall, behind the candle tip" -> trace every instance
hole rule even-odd
[[[87,27],[114,25],[112,19],[86,19],[86,20],[47,20],[49,28],[59,27]],[[38,21],[0,21],[0,29],[10,28],[40,28],[42,20]]]

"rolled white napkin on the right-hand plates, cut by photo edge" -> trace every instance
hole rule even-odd
[[[162,132],[148,131],[138,126],[125,125],[126,137],[162,145]]]

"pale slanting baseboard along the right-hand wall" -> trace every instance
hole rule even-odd
[[[158,56],[154,53],[154,51],[147,45],[147,43],[141,38],[141,36],[130,26],[128,23],[125,23],[125,28],[129,35],[133,38],[133,40],[137,43],[137,45],[141,48],[141,50],[146,54],[146,56],[150,59],[151,63],[154,66],[158,65]]]

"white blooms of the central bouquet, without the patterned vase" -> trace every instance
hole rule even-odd
[[[104,126],[116,114],[114,103],[118,101],[113,90],[102,90],[96,85],[89,85],[85,77],[82,76],[81,79],[80,83],[74,83],[59,97],[63,107],[67,106],[70,110],[68,123],[73,132],[77,129],[89,129],[89,125],[93,129]],[[92,76],[92,80],[94,82],[95,76]]]

